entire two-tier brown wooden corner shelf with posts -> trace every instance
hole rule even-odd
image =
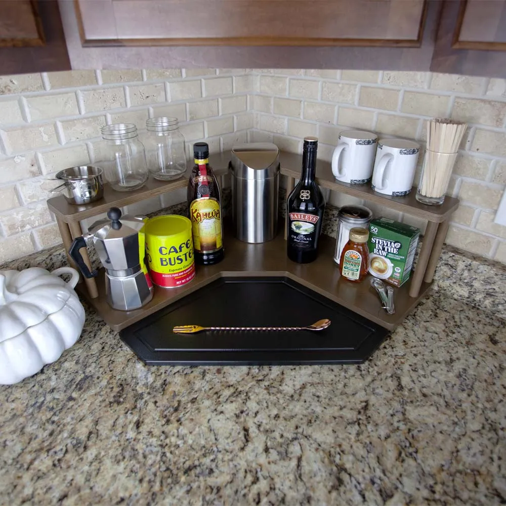
[[[216,176],[228,173],[230,151],[211,155],[210,164]],[[287,177],[287,195],[300,177],[302,155],[280,152],[281,174]],[[185,188],[188,183],[188,171],[184,177],[163,183],[149,179],[144,187],[132,192],[114,191],[104,186],[104,198],[88,205],[68,204],[63,196],[48,200],[49,209],[55,214],[66,251],[75,237],[82,235],[79,222],[85,218],[104,213],[110,207],[121,207],[162,193]],[[420,204],[415,199],[416,189],[404,197],[390,197],[376,193],[368,185],[348,185],[339,183],[332,175],[330,163],[318,160],[316,168],[317,183],[331,191],[339,191],[364,200],[384,205],[391,209],[428,220],[427,230],[421,245],[420,255],[411,279],[395,289],[396,313],[388,315],[379,304],[376,292],[370,287],[368,279],[362,283],[349,283],[339,276],[339,269],[333,261],[335,239],[322,236],[321,251],[318,259],[311,264],[296,264],[286,257],[286,243],[283,235],[267,243],[248,244],[225,234],[227,253],[225,259],[214,266],[198,266],[197,275],[185,286],[173,289],[154,288],[154,296],[143,308],[123,312],[109,307],[105,298],[103,269],[98,278],[85,279],[76,290],[85,297],[105,322],[113,330],[120,330],[142,318],[158,311],[198,288],[218,279],[220,276],[287,276],[321,293],[334,302],[369,318],[388,329],[397,326],[406,315],[425,296],[431,286],[441,248],[445,239],[449,218],[458,206],[458,199],[446,197],[440,206]],[[83,260],[90,265],[85,249],[81,250]],[[70,265],[75,267],[67,255]],[[98,283],[97,283],[98,279]]]

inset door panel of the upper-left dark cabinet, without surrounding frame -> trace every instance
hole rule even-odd
[[[30,0],[0,2],[0,47],[43,45],[44,34],[36,4]]]

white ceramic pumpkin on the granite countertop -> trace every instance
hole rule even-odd
[[[60,274],[71,274],[65,282]],[[85,310],[71,267],[0,271],[0,384],[12,385],[60,358],[81,334]]]

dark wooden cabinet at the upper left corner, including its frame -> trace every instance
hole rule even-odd
[[[0,2],[0,74],[68,70],[56,0]]]

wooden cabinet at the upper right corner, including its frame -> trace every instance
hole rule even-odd
[[[506,77],[506,2],[444,2],[431,70]]]

